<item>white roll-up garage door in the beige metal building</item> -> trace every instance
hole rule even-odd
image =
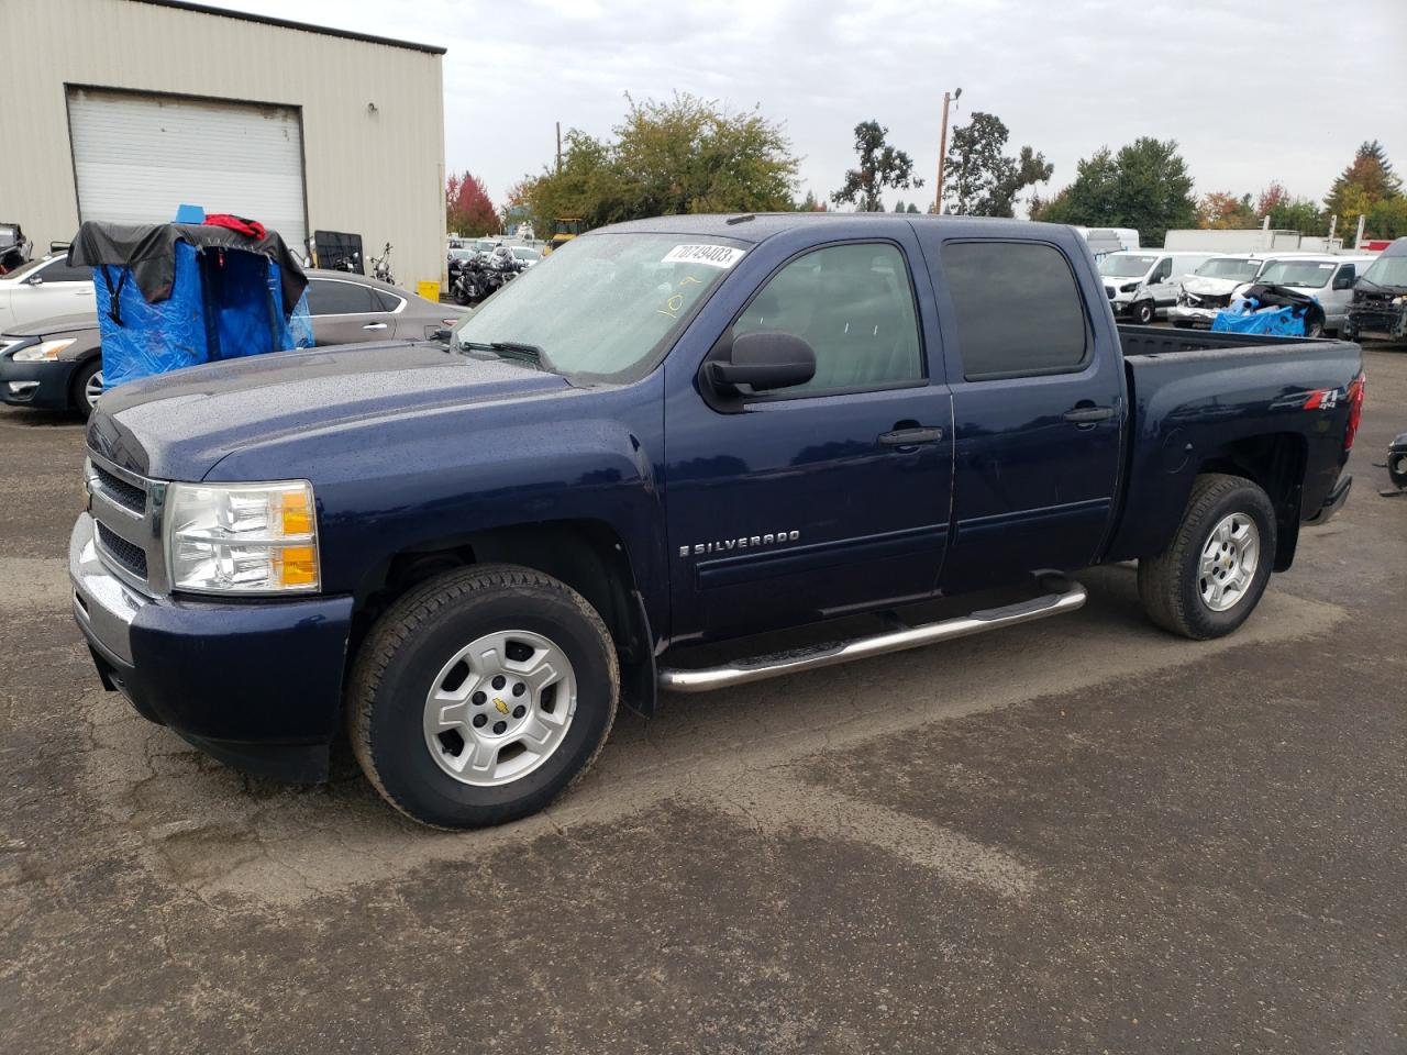
[[[293,107],[69,89],[79,217],[166,222],[182,203],[307,239]]]

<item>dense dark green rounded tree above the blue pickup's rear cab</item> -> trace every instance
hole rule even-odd
[[[1173,139],[1135,139],[1079,162],[1075,181],[1050,201],[1033,204],[1034,219],[1086,226],[1131,226],[1144,245],[1159,246],[1171,228],[1195,226],[1192,176]]]

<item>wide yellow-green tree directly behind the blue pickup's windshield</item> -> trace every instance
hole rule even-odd
[[[758,110],[732,113],[685,93],[663,103],[626,101],[613,141],[568,131],[560,169],[545,169],[525,187],[536,229],[552,231],[556,217],[599,226],[792,208],[796,159],[781,125]]]

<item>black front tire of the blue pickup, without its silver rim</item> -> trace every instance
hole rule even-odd
[[[456,648],[509,629],[560,646],[577,681],[577,708],[539,768],[498,786],[463,784],[426,746],[426,695]],[[536,813],[585,774],[611,733],[619,685],[611,633],[580,594],[532,568],[476,565],[416,587],[376,622],[352,665],[348,733],[367,779],[412,820],[442,829],[504,824]]]

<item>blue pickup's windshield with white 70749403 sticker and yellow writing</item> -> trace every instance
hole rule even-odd
[[[452,339],[461,350],[530,345],[557,373],[629,380],[743,252],[680,235],[577,238],[484,301]]]

